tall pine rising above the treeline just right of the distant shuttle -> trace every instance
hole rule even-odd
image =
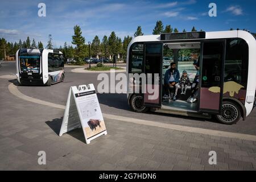
[[[72,36],[72,44],[76,45],[77,56],[80,53],[80,49],[85,44],[85,38],[82,36],[82,30],[79,25],[74,27],[74,35]]]

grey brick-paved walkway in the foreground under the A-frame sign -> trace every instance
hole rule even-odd
[[[108,135],[86,145],[81,129],[57,135],[61,118],[20,119],[1,123],[0,169],[256,169],[256,143],[247,140],[106,120]],[[41,150],[46,151],[45,166],[37,163]],[[214,166],[208,163],[211,150],[217,152]]]

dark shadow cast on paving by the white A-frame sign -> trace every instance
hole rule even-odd
[[[52,119],[52,121],[46,121],[46,124],[56,133],[56,135],[59,135],[62,120],[63,120],[63,117],[55,118],[55,119]],[[81,142],[85,143],[84,133],[82,132],[81,128],[69,131],[68,133],[65,133],[65,134],[71,135],[71,137],[76,138]]]

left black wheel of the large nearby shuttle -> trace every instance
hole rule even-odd
[[[143,106],[143,97],[139,94],[131,96],[130,106],[137,113],[146,113],[149,109],[149,107]]]

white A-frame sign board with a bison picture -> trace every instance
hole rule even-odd
[[[71,86],[59,135],[79,127],[82,127],[87,144],[107,134],[93,84]]]

